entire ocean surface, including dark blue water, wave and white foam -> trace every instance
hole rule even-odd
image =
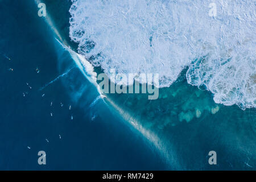
[[[254,1],[0,2],[2,169],[256,168]],[[159,98],[102,99],[111,68],[159,73]]]

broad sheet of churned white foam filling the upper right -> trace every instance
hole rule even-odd
[[[159,73],[204,85],[214,101],[256,107],[256,1],[72,0],[71,39],[105,73]],[[210,6],[209,6],[210,5]]]

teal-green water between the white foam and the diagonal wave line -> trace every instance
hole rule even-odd
[[[64,17],[56,18],[56,26],[67,24]],[[68,32],[62,31],[67,40]],[[147,94],[106,94],[104,100],[160,151],[170,169],[255,169],[255,108],[216,104],[206,88],[187,84],[186,71],[159,90],[158,100],[147,100]],[[218,154],[216,166],[208,164],[211,150]]]

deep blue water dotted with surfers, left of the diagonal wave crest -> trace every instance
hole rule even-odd
[[[0,169],[166,169],[154,146],[102,100],[90,107],[96,88],[35,7],[0,1]]]

